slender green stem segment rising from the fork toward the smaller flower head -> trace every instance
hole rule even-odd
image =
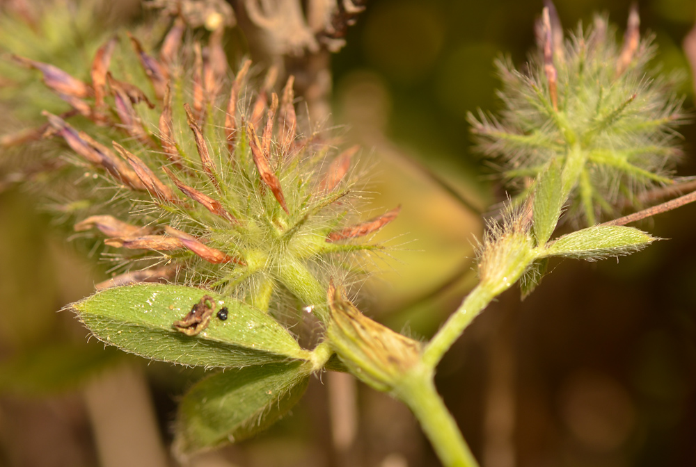
[[[464,329],[488,306],[495,296],[495,293],[482,284],[478,284],[471,290],[464,302],[459,306],[459,309],[450,316],[445,325],[426,345],[423,351],[422,363],[427,368],[435,368],[445,352],[452,347],[454,341],[457,341]]]

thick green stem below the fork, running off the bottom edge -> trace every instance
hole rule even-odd
[[[477,467],[466,441],[459,432],[457,422],[442,402],[432,381],[432,370],[419,366],[395,388],[395,395],[418,418],[420,426],[430,440],[445,467]]]

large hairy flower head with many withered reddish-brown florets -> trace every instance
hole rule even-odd
[[[135,35],[107,40],[85,81],[15,58],[73,109],[45,112],[45,136],[70,148],[90,199],[74,229],[119,252],[120,275],[100,286],[166,279],[263,310],[289,292],[326,318],[329,277],[377,248],[358,239],[398,209],[360,222],[356,148],[299,133],[292,76],[279,95],[276,69],[255,80],[247,61],[230,77],[222,26],[184,45],[185,27],[175,20],[158,54]]]

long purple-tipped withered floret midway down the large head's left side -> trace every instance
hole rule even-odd
[[[77,131],[61,117],[53,115],[44,110],[43,115],[48,118],[49,124],[56,133],[61,136],[73,151],[77,152],[89,163],[103,167],[119,181],[134,188],[135,190],[145,190],[143,182],[140,181],[136,173],[125,161],[113,154],[109,148],[96,142],[87,133]]]

